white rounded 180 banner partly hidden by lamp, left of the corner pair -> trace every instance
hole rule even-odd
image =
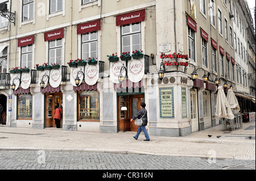
[[[125,64],[125,61],[117,61],[117,62],[110,62],[110,80],[114,83],[119,83],[118,75],[120,74],[120,70]],[[125,65],[124,65],[125,66]],[[122,70],[122,75],[125,77],[125,69]]]

